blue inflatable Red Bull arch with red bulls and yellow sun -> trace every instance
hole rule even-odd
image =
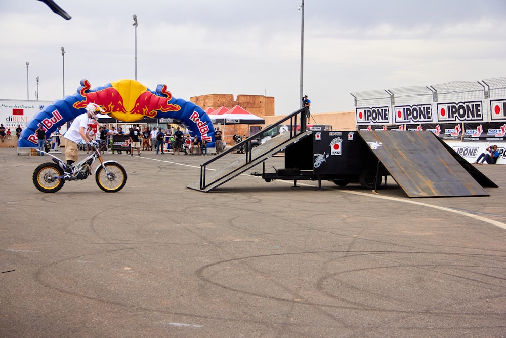
[[[42,124],[49,137],[59,126],[86,112],[88,103],[100,105],[111,118],[122,122],[137,122],[144,117],[173,119],[183,123],[190,135],[207,141],[215,147],[213,123],[202,108],[196,104],[172,97],[167,85],[160,84],[152,91],[135,80],[119,80],[103,87],[90,89],[88,80],[73,95],[54,101],[39,111],[21,132],[18,147],[32,148],[37,145],[35,130]]]

